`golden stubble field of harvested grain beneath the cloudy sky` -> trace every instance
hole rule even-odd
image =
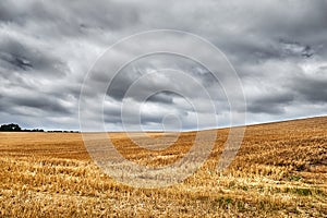
[[[234,161],[217,173],[228,132],[218,130],[195,174],[167,189],[116,182],[78,133],[0,133],[0,217],[327,217],[326,117],[246,128]],[[162,152],[110,135],[128,159],[165,166],[187,153],[195,133]]]

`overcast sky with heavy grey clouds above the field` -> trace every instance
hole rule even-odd
[[[326,116],[326,11],[325,0],[2,0],[0,123],[80,130],[83,119],[94,131],[194,130],[228,126],[231,113],[246,112],[246,124]],[[235,90],[230,99],[225,90],[232,86],[187,57],[155,53],[117,74],[108,65],[95,72],[110,46],[156,29],[194,34],[217,47],[240,78],[235,89],[246,110],[231,111],[230,100],[238,105],[242,96]],[[168,43],[211,58],[189,40]],[[129,49],[114,52],[113,64]],[[101,112],[104,123],[95,118]]]

